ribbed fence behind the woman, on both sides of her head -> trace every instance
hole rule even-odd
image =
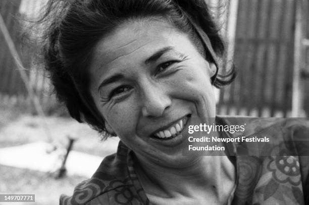
[[[33,4],[38,2],[27,1]],[[217,0],[207,1],[214,3]],[[304,0],[225,1],[230,9],[227,9],[222,16],[225,21],[223,31],[226,31],[223,35],[229,40],[224,60],[234,62],[238,77],[231,86],[220,91],[218,113],[254,116],[290,115],[294,92],[293,66],[298,1],[304,2]],[[0,13],[22,57],[24,67],[27,68],[29,80],[25,82],[21,78],[0,33],[0,101],[10,98],[23,103],[28,99],[28,92],[25,89],[25,83],[28,83],[44,104],[53,98],[48,80],[44,77],[42,69],[32,63],[33,51],[21,50],[20,31],[23,25],[18,18],[15,18],[20,13],[21,3],[25,4],[25,0],[0,0]],[[22,8],[29,10],[25,5]],[[305,18],[309,20],[309,16]],[[308,38],[309,28],[307,29]],[[229,65],[227,61],[223,61],[222,64]]]

